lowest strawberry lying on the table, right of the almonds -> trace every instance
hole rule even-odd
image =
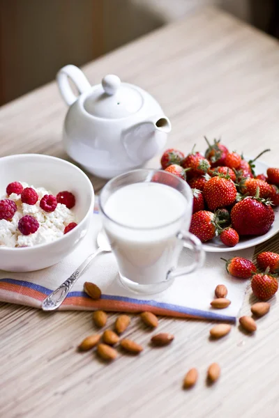
[[[271,274],[258,273],[252,277],[251,287],[259,300],[269,300],[278,291],[278,282]]]

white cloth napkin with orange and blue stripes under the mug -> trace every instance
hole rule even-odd
[[[22,304],[40,309],[47,295],[66,280],[96,250],[96,237],[100,231],[101,219],[95,210],[89,233],[80,246],[61,263],[36,272],[11,273],[0,270],[0,301]],[[239,256],[252,258],[254,248],[238,251]],[[116,259],[112,253],[98,255],[72,288],[61,310],[105,311],[152,311],[154,314],[207,320],[228,320],[234,322],[241,309],[248,281],[230,277],[225,271],[223,258],[232,258],[234,252],[208,253],[204,267],[185,277],[178,277],[174,284],[158,295],[137,295],[121,286],[118,279]],[[190,251],[183,250],[179,261],[186,265],[191,261]],[[103,295],[93,301],[83,291],[84,281],[96,283]],[[210,302],[218,284],[225,284],[232,303],[226,309],[212,309]]]

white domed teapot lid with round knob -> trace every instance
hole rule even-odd
[[[135,114],[142,104],[142,95],[136,88],[121,83],[116,75],[106,75],[84,100],[84,109],[98,118],[118,119]]]

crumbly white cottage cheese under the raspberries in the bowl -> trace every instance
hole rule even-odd
[[[45,194],[52,194],[44,187],[33,187],[27,183],[20,182],[22,186],[32,187],[38,193],[39,199],[35,205],[22,203],[19,194],[12,193],[10,196],[6,194],[1,199],[10,199],[17,205],[17,212],[13,215],[13,219],[6,221],[0,220],[0,247],[33,247],[33,245],[46,244],[61,238],[64,233],[65,226],[70,222],[76,222],[73,210],[68,209],[65,205],[57,203],[53,212],[45,212],[40,208],[40,199]],[[24,215],[31,215],[38,220],[40,224],[38,231],[30,235],[22,235],[17,228],[20,218]]]

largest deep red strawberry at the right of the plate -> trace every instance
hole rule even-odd
[[[274,222],[274,212],[269,201],[246,197],[236,203],[231,212],[232,227],[239,235],[264,235]]]

